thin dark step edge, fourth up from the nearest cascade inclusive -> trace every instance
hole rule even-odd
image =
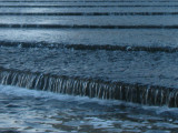
[[[178,12],[0,12],[0,16],[176,16]]]

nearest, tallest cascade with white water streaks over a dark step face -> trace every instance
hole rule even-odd
[[[0,69],[0,83],[27,89],[127,102],[178,106],[178,90],[95,79],[69,78]]]

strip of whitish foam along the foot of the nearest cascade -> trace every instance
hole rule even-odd
[[[29,89],[11,86],[11,85],[0,85],[0,93],[7,94],[7,95],[14,95],[14,96],[32,96],[32,98],[39,98],[39,99],[41,98],[41,99],[44,99],[46,101],[48,100],[71,101],[71,102],[76,101],[79,104],[97,103],[100,105],[108,105],[108,106],[123,104],[126,106],[134,106],[135,109],[154,111],[157,114],[162,114],[164,112],[171,112],[171,113],[178,112],[177,108],[148,106],[148,105],[141,105],[141,104],[131,103],[131,102],[119,101],[119,100],[100,100],[97,98],[91,99],[88,96],[59,94],[59,93],[52,93],[47,91],[29,90]]]

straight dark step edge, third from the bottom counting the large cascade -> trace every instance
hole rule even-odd
[[[37,29],[178,29],[176,25],[88,25],[88,24],[3,24],[0,28],[37,28]]]

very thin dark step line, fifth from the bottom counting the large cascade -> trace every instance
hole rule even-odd
[[[176,6],[0,6],[0,8],[151,8],[151,7],[167,7],[176,8]]]

